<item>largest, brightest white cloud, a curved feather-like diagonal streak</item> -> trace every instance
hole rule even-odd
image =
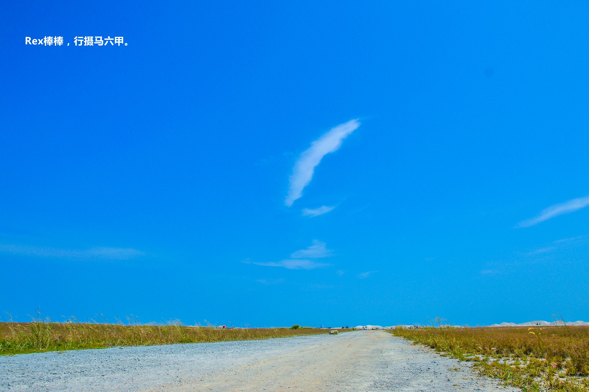
[[[284,205],[292,206],[294,200],[303,195],[303,189],[313,179],[315,167],[323,157],[337,151],[342,146],[343,139],[346,139],[359,126],[360,122],[357,119],[340,124],[313,141],[311,146],[300,154],[299,159],[294,163],[293,173],[290,175],[289,193],[284,200]]]

